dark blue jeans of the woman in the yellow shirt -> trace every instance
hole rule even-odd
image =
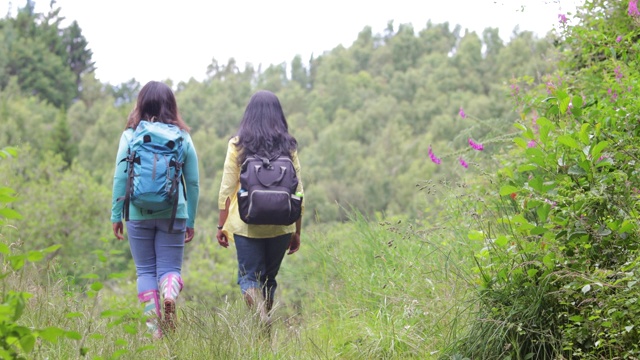
[[[249,288],[261,289],[267,299],[274,299],[276,275],[289,248],[291,234],[254,239],[233,235],[238,255],[238,285],[244,294]]]

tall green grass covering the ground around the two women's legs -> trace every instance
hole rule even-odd
[[[451,229],[423,231],[419,224],[354,213],[350,222],[324,230],[307,230],[301,250],[286,257],[270,332],[239,296],[218,297],[214,289],[206,300],[181,298],[177,330],[154,341],[130,274],[69,279],[46,259],[11,272],[4,288],[33,295],[22,323],[66,331],[38,338],[28,354],[33,359],[440,356],[466,321],[469,283],[461,274],[470,264],[468,250]],[[98,258],[97,267],[108,267]]]

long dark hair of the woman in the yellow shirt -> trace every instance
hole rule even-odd
[[[290,157],[298,148],[298,142],[289,134],[280,100],[267,90],[251,96],[236,136],[239,138],[236,146],[240,151],[240,164],[253,154],[267,158]]]

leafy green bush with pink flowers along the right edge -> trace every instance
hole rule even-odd
[[[640,354],[640,73],[638,48],[616,40],[635,38],[638,24],[625,10],[588,2],[581,24],[565,29],[563,71],[517,93],[520,134],[491,188],[496,200],[469,232],[485,246],[475,256],[477,319],[451,354]]]

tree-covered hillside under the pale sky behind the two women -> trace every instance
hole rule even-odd
[[[141,84],[99,83],[79,25],[61,28],[58,14],[35,14],[27,6],[0,22],[0,46],[7,49],[0,52],[0,143],[29,145],[21,155],[25,165],[11,166],[52,166],[51,158],[60,156],[59,177],[86,171],[85,181],[108,192],[114,148]],[[552,57],[551,42],[530,32],[505,40],[497,28],[476,34],[448,23],[415,29],[390,22],[383,34],[365,27],[349,48],[336,47],[308,64],[296,57],[258,72],[240,69],[233,59],[214,60],[206,80],[172,84],[201,159],[199,224],[214,221],[226,142],[256,89],[280,97],[299,141],[309,199],[305,222],[344,221],[350,208],[423,217],[428,204],[413,196],[416,182],[462,171],[434,168],[426,161],[429,145],[455,153],[468,137],[511,131],[516,115],[505,101],[507,84],[522,76],[539,80],[554,66]],[[474,117],[460,118],[462,106]],[[42,184],[39,176],[30,179]],[[31,181],[19,185],[35,200],[27,195],[37,191]]]

